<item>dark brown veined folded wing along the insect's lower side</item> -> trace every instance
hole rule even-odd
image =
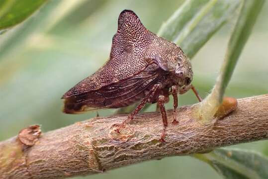
[[[94,91],[66,98],[64,112],[81,113],[100,108],[128,106],[144,97],[144,91],[152,88],[159,78],[157,73],[143,73]]]

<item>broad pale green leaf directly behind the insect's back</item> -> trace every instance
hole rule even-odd
[[[158,35],[178,44],[192,58],[234,15],[241,0],[186,0],[161,26]]]

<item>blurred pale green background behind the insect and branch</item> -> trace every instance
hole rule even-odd
[[[46,132],[89,119],[95,112],[61,112],[61,96],[105,63],[117,18],[132,9],[157,32],[183,0],[50,0],[23,24],[0,35],[0,140],[32,124]],[[234,17],[237,14],[234,14]],[[226,95],[247,97],[268,93],[268,3],[237,64]],[[193,85],[205,96],[213,87],[224,58],[231,18],[192,59]],[[172,102],[172,101],[171,101]],[[195,103],[192,92],[179,105]],[[172,108],[172,103],[167,105]],[[155,106],[147,110],[154,110]],[[101,110],[109,115],[114,110]],[[232,146],[268,155],[268,142]],[[169,157],[88,176],[90,179],[220,179],[208,165],[191,157]]]

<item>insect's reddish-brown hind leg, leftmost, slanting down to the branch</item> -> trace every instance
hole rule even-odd
[[[129,114],[129,116],[127,117],[127,119],[126,120],[124,120],[123,122],[122,122],[122,124],[116,129],[116,131],[118,132],[118,133],[120,133],[119,131],[120,131],[120,129],[121,129],[121,127],[123,127],[124,126],[124,124],[125,123],[128,123],[129,121],[131,121],[133,118],[134,118],[134,116],[144,107],[144,105],[148,102],[148,100],[150,99],[150,98],[152,98],[154,95],[155,95],[155,93],[156,93],[156,91],[159,89],[161,87],[161,85],[160,84],[155,84],[154,85],[154,87],[149,91],[149,93],[142,99],[142,101],[139,103],[139,105],[135,108],[135,110],[134,111],[132,111],[130,114]]]

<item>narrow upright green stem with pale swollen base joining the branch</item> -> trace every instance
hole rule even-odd
[[[196,116],[203,122],[212,118],[222,102],[224,91],[265,0],[244,0],[237,23],[228,43],[226,56],[212,92],[196,105]]]

